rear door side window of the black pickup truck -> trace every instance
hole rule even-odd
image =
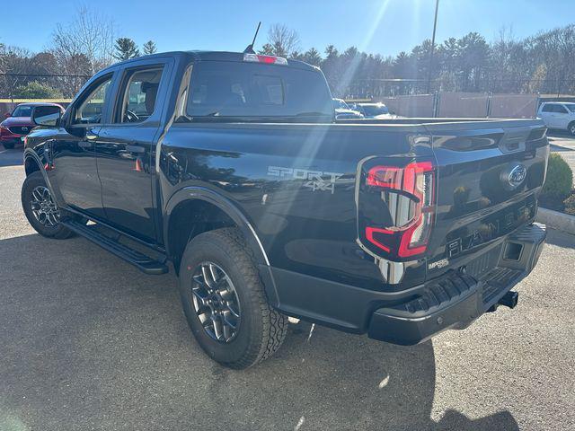
[[[139,123],[154,113],[163,71],[161,66],[128,71],[119,91],[121,99],[114,122]]]

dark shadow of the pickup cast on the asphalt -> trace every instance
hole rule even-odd
[[[507,410],[432,419],[430,342],[299,322],[276,356],[231,371],[193,340],[172,275],[36,234],[1,240],[0,261],[0,428],[518,429]]]

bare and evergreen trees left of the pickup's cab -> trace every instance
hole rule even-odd
[[[134,40],[115,33],[111,19],[82,6],[56,25],[42,52],[0,43],[0,98],[73,97],[98,70],[140,56]],[[153,40],[142,46],[144,55],[155,52]]]

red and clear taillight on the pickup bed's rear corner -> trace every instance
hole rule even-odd
[[[381,199],[387,204],[391,223],[366,225],[367,242],[390,258],[408,258],[424,253],[433,224],[435,178],[431,162],[370,168],[366,177],[367,188],[381,189]],[[376,217],[366,218],[372,220]]]

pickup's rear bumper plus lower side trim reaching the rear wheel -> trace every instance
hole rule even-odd
[[[544,224],[528,225],[488,251],[493,260],[485,271],[467,268],[465,273],[454,268],[458,270],[398,292],[373,291],[263,265],[260,274],[268,300],[280,312],[337,330],[367,332],[372,339],[411,345],[442,330],[463,329],[490,310],[531,272],[545,236]],[[509,244],[516,244],[514,256],[507,256]]]

